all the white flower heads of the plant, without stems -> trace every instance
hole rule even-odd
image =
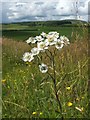
[[[34,56],[38,55],[40,52],[44,52],[49,46],[55,45],[55,48],[60,50],[64,45],[68,45],[69,39],[65,36],[59,36],[58,32],[49,32],[46,34],[42,32],[41,35],[36,37],[30,37],[26,40],[28,44],[36,43],[37,47],[31,49],[31,52],[26,52],[23,55],[23,61],[31,62],[34,59]],[[39,65],[40,71],[42,73],[47,72],[48,67],[45,64]]]

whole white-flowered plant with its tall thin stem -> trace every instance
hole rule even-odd
[[[37,58],[40,72],[42,72],[43,74],[46,73],[51,77],[54,85],[56,100],[60,109],[60,114],[63,119],[62,104],[58,96],[58,89],[56,86],[57,78],[56,78],[55,53],[56,50],[61,50],[64,46],[70,44],[69,39],[66,36],[60,36],[59,33],[55,31],[55,32],[49,32],[48,34],[42,32],[41,35],[39,36],[30,37],[28,40],[26,40],[26,42],[29,45],[35,44],[36,47],[34,46],[34,48],[31,49],[30,53],[29,52],[24,53],[22,59],[24,62],[31,62],[32,60],[34,60],[34,58],[35,59]],[[52,52],[49,49],[49,47],[54,47],[53,48],[54,51]],[[47,57],[50,59],[50,63],[51,63],[50,67],[52,68],[53,74],[49,72],[48,69],[49,67],[45,63],[43,63],[40,53],[46,54]]]

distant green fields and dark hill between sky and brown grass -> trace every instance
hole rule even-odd
[[[78,32],[80,36],[83,36],[81,27],[87,27],[87,25],[87,22],[79,20],[29,21],[2,24],[0,31],[2,31],[3,37],[22,41],[26,40],[28,36],[35,37],[40,35],[42,31],[46,33],[57,31],[60,35],[66,35],[68,38],[71,38],[73,32],[75,34]]]

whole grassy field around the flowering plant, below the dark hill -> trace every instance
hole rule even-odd
[[[70,45],[56,51],[55,56],[56,86],[63,118],[89,118],[87,28],[24,25],[3,25],[2,117],[61,118],[52,79],[38,70],[36,61],[22,61],[24,52],[31,49],[25,40],[42,31],[57,31],[70,39]],[[44,63],[50,64],[44,53],[42,56]],[[51,69],[50,72],[53,74]]]

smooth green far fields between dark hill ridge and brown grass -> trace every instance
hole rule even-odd
[[[57,31],[60,33],[60,35],[66,35],[72,41],[75,41],[75,37],[72,38],[72,36],[77,35],[79,36],[79,38],[81,38],[85,37],[85,34],[87,34],[87,28],[84,27],[83,30],[83,25],[82,26],[78,25],[76,27],[73,25],[32,26],[28,25],[27,23],[25,25],[20,23],[2,25],[2,36],[17,41],[25,41],[26,39],[28,39],[28,37],[39,35],[42,31],[46,33],[50,31]]]

